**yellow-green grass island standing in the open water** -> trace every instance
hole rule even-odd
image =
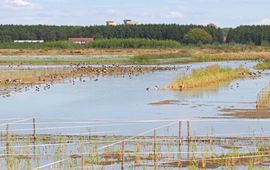
[[[213,84],[230,82],[234,79],[242,78],[248,72],[249,70],[242,66],[233,69],[230,67],[220,67],[219,65],[212,65],[206,68],[193,70],[191,75],[174,81],[170,85],[170,88],[174,90],[183,90],[207,87]]]

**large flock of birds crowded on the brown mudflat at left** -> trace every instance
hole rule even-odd
[[[12,70],[14,68],[10,68]],[[18,68],[16,68],[18,69]],[[29,68],[31,69],[31,68]],[[33,89],[36,92],[49,90],[54,83],[63,80],[70,80],[75,85],[76,80],[86,82],[87,76],[94,76],[93,81],[99,81],[100,76],[128,76],[132,77],[144,74],[146,72],[156,72],[176,69],[175,67],[158,67],[158,66],[120,66],[120,65],[102,65],[102,66],[83,66],[70,65],[62,69],[52,69],[52,72],[43,76],[34,76],[31,81],[24,80],[23,71],[21,78],[0,80],[0,95],[4,98],[10,97],[10,92],[22,92]],[[49,70],[49,69],[48,69]],[[155,87],[157,88],[157,87]]]

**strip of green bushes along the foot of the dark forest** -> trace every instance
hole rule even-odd
[[[87,45],[78,45],[69,41],[48,41],[43,44],[2,42],[0,49],[114,49],[114,48],[187,48],[187,49],[212,49],[224,52],[270,51],[269,46],[255,46],[243,44],[205,44],[186,45],[174,40],[157,40],[145,38],[113,38],[97,39]]]

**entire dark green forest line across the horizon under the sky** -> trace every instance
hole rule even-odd
[[[215,25],[119,25],[119,26],[47,26],[47,25],[0,25],[0,42],[13,40],[45,40],[62,41],[69,37],[95,37],[97,39],[144,38],[156,40],[175,40],[183,44],[194,43],[201,29],[208,33],[211,41],[201,41],[207,44],[222,44],[227,36],[227,43],[269,45],[270,26],[239,26],[237,28],[221,29]],[[201,36],[205,33],[198,33]],[[187,37],[192,37],[190,41]]]

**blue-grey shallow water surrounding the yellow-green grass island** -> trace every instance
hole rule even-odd
[[[224,108],[254,109],[257,94],[269,83],[269,71],[265,71],[260,78],[236,80],[218,88],[188,92],[166,89],[177,77],[190,72],[191,69],[187,71],[187,66],[198,68],[211,64],[216,63],[177,65],[176,71],[147,73],[131,79],[129,76],[106,76],[98,77],[98,81],[94,81],[97,77],[85,77],[83,78],[85,81],[76,79],[73,84],[73,80],[66,80],[46,90],[43,89],[45,85],[41,85],[39,92],[35,91],[35,87],[20,93],[12,92],[10,97],[0,98],[0,133],[6,132],[6,123],[9,123],[11,133],[31,134],[33,133],[32,118],[36,118],[37,134],[130,135],[132,137],[127,136],[129,140],[135,135],[153,136],[156,129],[157,136],[177,136],[178,121],[181,120],[181,132],[185,139],[188,133],[186,120],[189,120],[191,136],[269,136],[269,119],[228,119],[222,116],[220,111]],[[244,65],[253,68],[257,63],[237,61],[218,62],[218,64],[231,67]],[[0,69],[62,67],[66,66],[16,66],[13,68],[0,66]],[[146,88],[150,90],[147,91]],[[176,102],[169,105],[150,105],[150,103],[164,100]],[[248,146],[248,142],[236,143],[243,146],[241,152],[254,150]],[[119,147],[118,144],[112,146]],[[247,146],[244,146],[245,144]],[[21,145],[25,144],[15,142],[13,147],[19,147],[20,150]],[[5,154],[5,141],[1,141],[0,146],[2,146],[0,154]],[[40,149],[43,154],[46,146],[46,144],[38,146],[38,150]],[[70,149],[76,150],[72,144]],[[151,149],[152,147],[150,151]],[[182,149],[183,152],[187,152],[185,145]],[[216,147],[215,151],[233,152],[220,147]],[[39,164],[31,162],[31,166],[32,168],[39,167],[63,158],[44,156],[40,158]],[[0,162],[4,164],[5,160],[2,159]],[[119,169],[118,164],[113,167]],[[247,169],[246,166],[237,168]],[[104,169],[112,169],[112,167]]]

